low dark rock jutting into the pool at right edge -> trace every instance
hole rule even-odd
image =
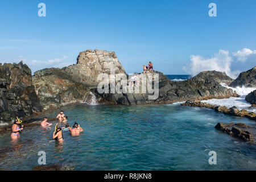
[[[249,131],[246,131],[244,129],[250,130],[256,134],[255,129],[251,129],[250,126],[245,125],[244,123],[228,123],[228,124],[222,124],[217,123],[215,126],[217,130],[222,131],[223,133],[229,134],[232,137],[239,138],[245,142],[254,142],[254,135],[251,134]]]

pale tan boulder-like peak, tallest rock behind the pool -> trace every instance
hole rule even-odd
[[[100,51],[88,49],[79,53],[77,64],[69,65],[62,69],[63,72],[71,76],[72,80],[81,82],[86,86],[97,86],[101,80],[98,75],[101,73],[125,74],[121,63],[117,59],[114,51]]]

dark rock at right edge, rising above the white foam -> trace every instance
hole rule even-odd
[[[256,67],[240,73],[236,80],[234,80],[229,86],[256,87]]]

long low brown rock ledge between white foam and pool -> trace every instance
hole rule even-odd
[[[210,105],[210,104],[200,102],[200,101],[186,101],[184,104],[181,104],[181,105],[191,106],[191,107],[205,107],[205,108],[209,108],[209,109],[214,109],[220,113],[236,115],[236,116],[240,116],[240,117],[246,117],[246,118],[253,119],[254,121],[256,121],[255,113],[253,113],[253,112],[249,113],[246,109],[240,110],[236,106],[228,108],[226,106]]]

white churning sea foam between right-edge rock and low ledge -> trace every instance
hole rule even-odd
[[[210,100],[204,100],[202,102],[211,104],[211,105],[221,105],[226,106],[228,108],[236,106],[238,109],[246,109],[247,111],[252,111],[255,113],[254,108],[250,108],[251,104],[249,102],[246,102],[245,96],[255,90],[256,88],[246,88],[245,86],[237,86],[236,88],[232,88],[224,83],[221,83],[221,86],[224,86],[226,88],[232,89],[233,91],[236,91],[237,94],[239,94],[241,97],[230,97],[230,98],[224,98],[224,99],[210,99]]]

